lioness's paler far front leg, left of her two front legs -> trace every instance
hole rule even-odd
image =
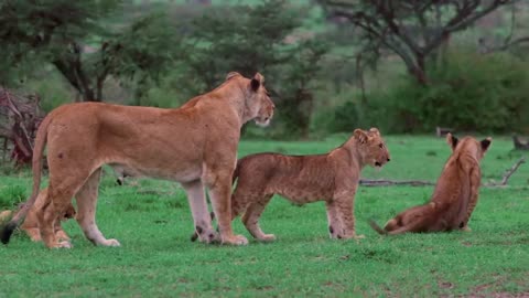
[[[195,233],[201,242],[212,243],[219,241],[218,234],[213,230],[212,217],[207,211],[206,195],[204,193],[204,184],[201,180],[182,183],[187,193],[191,213],[195,223]]]

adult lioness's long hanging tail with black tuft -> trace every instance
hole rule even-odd
[[[28,200],[28,203],[23,205],[17,214],[9,221],[9,223],[2,227],[0,231],[0,241],[3,244],[8,244],[13,231],[22,223],[25,215],[33,206],[39,196],[39,189],[41,188],[41,172],[42,172],[42,156],[44,152],[44,147],[46,146],[47,139],[47,127],[50,126],[51,117],[50,115],[44,118],[44,120],[39,126],[39,130],[36,131],[35,137],[35,147],[33,148],[33,190],[31,192],[31,196]]]

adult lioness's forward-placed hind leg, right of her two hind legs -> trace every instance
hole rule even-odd
[[[96,206],[101,169],[97,169],[75,195],[77,201],[77,223],[85,236],[95,245],[120,246],[117,240],[107,240],[96,224]]]

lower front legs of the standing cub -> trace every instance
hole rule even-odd
[[[364,235],[356,235],[355,231],[355,192],[343,192],[334,196],[334,203],[342,230],[338,238],[364,238]]]

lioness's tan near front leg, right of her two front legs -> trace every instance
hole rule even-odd
[[[215,217],[217,217],[222,243],[246,245],[248,240],[242,235],[235,235],[231,228],[231,172],[210,173],[206,183]]]

